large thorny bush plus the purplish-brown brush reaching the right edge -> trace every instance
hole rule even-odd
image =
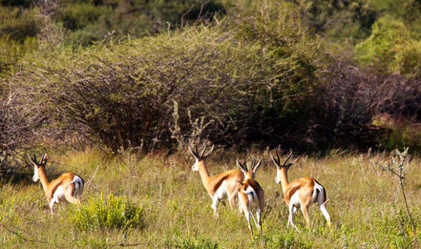
[[[419,82],[374,81],[308,32],[294,5],[230,9],[213,25],[27,55],[7,87],[51,134],[113,151],[199,140],[239,148],[375,145],[385,132],[372,125],[376,114],[420,117]]]

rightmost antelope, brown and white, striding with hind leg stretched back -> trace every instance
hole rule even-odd
[[[278,146],[280,148],[280,146]],[[321,213],[323,214],[324,218],[328,221],[328,225],[331,225],[331,219],[326,209],[326,190],[324,187],[317,182],[315,179],[310,177],[303,177],[297,179],[291,183],[288,182],[288,169],[300,158],[299,156],[292,162],[287,165],[286,162],[290,159],[292,155],[292,149],[290,150],[290,154],[286,157],[285,161],[281,165],[279,163],[279,154],[278,148],[275,149],[277,160],[272,156],[272,160],[275,163],[277,170],[276,170],[276,183],[281,183],[283,197],[289,206],[290,215],[288,217],[288,225],[294,226],[297,230],[297,226],[294,224],[294,214],[298,207],[301,207],[301,212],[304,215],[305,222],[309,225],[309,214],[308,214],[308,207],[311,203],[316,202],[319,204]]]

